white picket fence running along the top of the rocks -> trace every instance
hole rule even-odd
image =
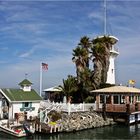
[[[54,103],[48,101],[41,101],[40,106],[47,108],[48,106],[59,106],[59,109],[64,112],[80,112],[80,111],[89,111],[91,108],[96,110],[96,103],[80,103],[80,104],[70,104],[70,103]]]

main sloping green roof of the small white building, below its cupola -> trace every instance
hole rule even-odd
[[[35,90],[23,91],[22,89],[2,89],[10,101],[38,101],[42,98]]]

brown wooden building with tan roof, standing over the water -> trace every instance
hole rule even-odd
[[[96,111],[123,118],[129,123],[140,120],[140,89],[112,86],[91,91],[96,98]]]

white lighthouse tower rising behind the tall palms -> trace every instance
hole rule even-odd
[[[107,81],[106,83],[115,84],[115,58],[119,55],[118,50],[115,48],[115,44],[118,39],[114,36],[109,36],[113,42],[112,48],[110,49],[110,64],[107,72]]]

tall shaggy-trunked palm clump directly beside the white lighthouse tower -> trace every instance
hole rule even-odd
[[[98,83],[97,86],[99,86],[101,83],[106,83],[107,80],[107,72],[110,64],[110,49],[113,43],[109,36],[96,38],[92,40],[92,43],[93,48],[91,50],[94,56],[94,78],[98,77],[98,79],[100,79],[97,82],[95,78],[94,82]]]

